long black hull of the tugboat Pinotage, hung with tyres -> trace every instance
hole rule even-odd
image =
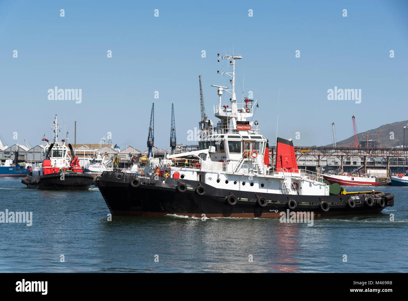
[[[137,188],[131,186],[133,179],[141,180]],[[289,200],[295,200],[297,206],[290,211],[310,212],[315,216],[326,215],[359,215],[381,212],[387,206],[393,206],[394,199],[391,194],[375,195],[375,198],[384,198],[385,206],[380,207],[375,201],[372,207],[364,204],[367,194],[353,195],[355,207],[350,208],[346,204],[351,195],[284,195],[264,194],[255,195],[254,192],[216,189],[213,186],[200,183],[205,188],[205,195],[198,195],[195,188],[198,181],[187,181],[173,178],[153,177],[104,171],[95,180],[102,196],[113,215],[118,216],[164,216],[166,214],[178,214],[183,216],[202,217],[279,217],[280,212],[288,209]],[[177,191],[177,183],[183,182],[188,186],[186,192]],[[237,204],[234,206],[226,202],[226,197],[234,194]],[[257,204],[257,197],[269,200],[265,207]],[[248,199],[248,200],[242,200]],[[273,202],[271,202],[273,201]],[[322,202],[327,202],[330,209],[325,212],[321,209]]]

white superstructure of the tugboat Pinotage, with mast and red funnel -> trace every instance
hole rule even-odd
[[[293,143],[278,138],[275,167],[269,164],[268,140],[260,133],[257,121],[251,120],[257,101],[244,99],[237,103],[235,95],[235,61],[242,56],[219,56],[228,60],[232,72],[217,72],[231,77],[232,88],[217,88],[218,105],[214,115],[217,124],[206,120],[200,128],[200,149],[167,155],[171,159],[172,177],[200,182],[220,189],[279,193],[289,195],[329,195],[329,185],[322,175],[297,168]],[[231,97],[223,103],[223,94]],[[160,164],[168,166],[169,164]]]

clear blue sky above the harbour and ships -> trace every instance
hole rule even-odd
[[[76,120],[77,142],[111,132],[113,144],[145,150],[154,101],[155,146],[169,148],[171,103],[177,143],[196,144],[187,131],[200,120],[198,74],[215,120],[211,84],[228,81],[217,53],[234,48],[237,99],[245,68],[266,138],[275,142],[280,88],[278,136],[329,144],[335,122],[340,141],[353,134],[352,115],[359,132],[408,119],[407,13],[408,1],[0,1],[0,135],[38,144],[58,114],[71,143]],[[82,89],[82,102],[49,100],[54,86]],[[335,86],[361,89],[361,103],[329,101]]]

